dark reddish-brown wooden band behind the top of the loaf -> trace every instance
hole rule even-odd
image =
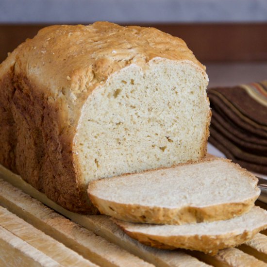
[[[200,61],[267,61],[267,23],[139,25],[181,37]],[[45,26],[0,25],[0,62]]]

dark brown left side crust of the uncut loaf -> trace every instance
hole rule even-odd
[[[65,107],[22,73],[15,75],[11,56],[6,61],[0,66],[0,163],[64,208],[97,214],[86,187],[76,179],[74,133],[59,112]]]

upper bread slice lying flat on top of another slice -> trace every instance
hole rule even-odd
[[[248,212],[258,179],[226,159],[94,181],[88,194],[100,213],[130,222],[184,224]]]

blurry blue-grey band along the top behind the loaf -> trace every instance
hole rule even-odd
[[[0,23],[266,22],[267,0],[0,0]]]

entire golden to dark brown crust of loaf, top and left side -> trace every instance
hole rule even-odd
[[[0,163],[63,207],[97,213],[86,196],[73,138],[84,101],[114,72],[155,57],[203,67],[183,40],[108,22],[39,31],[0,65]]]

